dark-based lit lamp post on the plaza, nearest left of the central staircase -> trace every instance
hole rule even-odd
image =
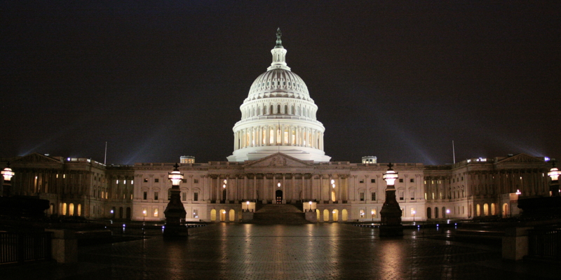
[[[185,211],[185,207],[183,207],[181,202],[180,183],[183,180],[183,174],[181,174],[180,166],[177,163],[173,167],[173,172],[168,174],[168,179],[170,179],[172,185],[170,189],[170,202],[168,202],[168,207],[165,207],[165,211],[163,211],[165,216],[164,237],[187,236],[187,226],[181,225],[185,215],[187,215],[187,211]]]

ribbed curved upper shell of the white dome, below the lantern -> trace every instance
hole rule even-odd
[[[255,79],[248,95],[249,100],[267,97],[309,99],[310,94],[306,83],[297,74],[285,69],[272,69]]]

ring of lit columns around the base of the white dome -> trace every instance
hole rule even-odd
[[[299,125],[259,125],[234,132],[234,151],[261,146],[304,146],[323,151],[323,131]]]

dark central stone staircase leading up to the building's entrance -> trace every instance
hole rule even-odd
[[[249,223],[262,225],[302,225],[306,221],[306,214],[294,204],[257,204],[257,211]]]

